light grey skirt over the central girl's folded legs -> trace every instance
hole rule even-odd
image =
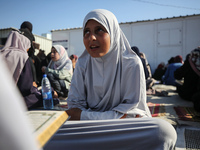
[[[168,122],[155,118],[68,121],[44,150],[173,150],[176,138]]]

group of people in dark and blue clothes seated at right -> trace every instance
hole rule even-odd
[[[193,102],[196,111],[200,112],[200,47],[186,55],[185,61],[177,55],[161,62],[156,68],[153,78],[162,84],[176,87],[178,95]]]

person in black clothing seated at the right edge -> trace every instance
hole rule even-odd
[[[177,85],[179,96],[185,100],[194,101],[193,96],[200,91],[200,48],[194,49],[187,56],[183,66],[174,72],[174,77],[178,80],[184,78],[183,85]],[[200,102],[200,98],[197,99]]]

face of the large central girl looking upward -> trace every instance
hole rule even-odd
[[[92,57],[102,57],[110,49],[110,35],[104,26],[95,20],[89,20],[85,25],[83,42]]]

